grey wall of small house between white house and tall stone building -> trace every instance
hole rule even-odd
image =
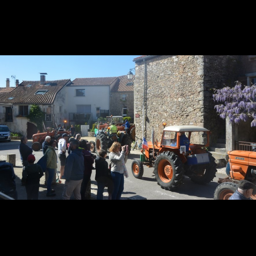
[[[122,100],[122,95],[126,94],[126,100]],[[110,102],[110,114],[122,116],[122,109],[127,108],[128,114],[134,119],[134,92],[112,92]]]

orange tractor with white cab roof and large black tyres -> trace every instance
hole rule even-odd
[[[166,123],[163,124],[164,127]],[[177,189],[185,176],[198,184],[207,184],[216,177],[215,158],[206,151],[210,132],[199,126],[168,126],[164,128],[162,141],[147,142],[141,150],[140,161],[132,163],[132,173],[141,179],[143,166],[154,167],[158,185],[165,190]]]

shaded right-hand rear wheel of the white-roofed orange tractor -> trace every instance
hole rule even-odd
[[[215,162],[215,158],[209,154],[209,160],[210,163],[207,165],[205,169],[200,169],[199,168],[195,170],[194,174],[191,176],[191,181],[194,181],[195,183],[198,184],[208,184],[209,182],[213,181],[214,178],[216,177],[217,173],[217,163]]]

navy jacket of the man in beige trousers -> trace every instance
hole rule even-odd
[[[84,159],[82,150],[76,149],[68,156],[66,160],[64,175],[66,181],[82,180],[84,172]]]

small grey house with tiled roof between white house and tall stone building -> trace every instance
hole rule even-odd
[[[129,116],[134,121],[134,77],[119,76],[111,90],[110,113],[113,116]]]

